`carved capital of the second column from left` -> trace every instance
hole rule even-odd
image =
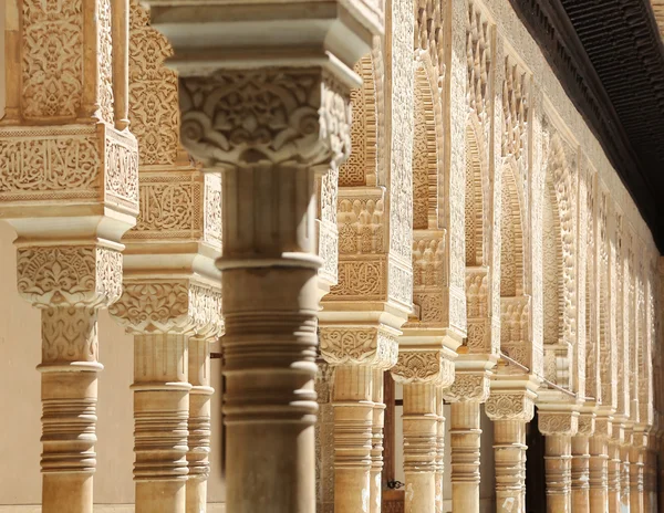
[[[187,279],[125,279],[110,312],[133,334],[221,332],[220,290]]]

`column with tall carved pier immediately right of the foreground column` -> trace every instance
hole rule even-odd
[[[375,39],[355,66],[363,81],[352,91],[359,105],[352,135],[353,146],[363,146],[340,167],[339,282],[319,313],[321,355],[334,367],[338,513],[381,509],[382,376],[396,363],[397,337],[413,310],[415,22],[412,4],[385,3],[385,32],[391,35]]]

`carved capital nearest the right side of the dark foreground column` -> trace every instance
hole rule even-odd
[[[330,365],[364,365],[384,370],[396,364],[395,335],[378,327],[324,327],[320,331],[321,355]]]

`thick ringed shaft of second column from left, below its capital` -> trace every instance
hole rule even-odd
[[[136,513],[185,513],[187,336],[134,335]]]

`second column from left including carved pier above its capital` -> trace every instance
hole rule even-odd
[[[206,350],[221,315],[221,180],[179,145],[177,74],[164,64],[173,49],[137,0],[128,50],[141,211],[123,238],[123,294],[111,314],[134,336],[136,512],[200,513],[212,392]]]

